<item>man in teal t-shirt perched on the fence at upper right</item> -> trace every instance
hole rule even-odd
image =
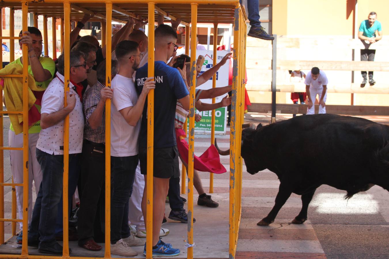
[[[366,43],[373,44],[378,40],[382,39],[382,28],[381,23],[376,20],[377,13],[370,12],[368,19],[364,20],[359,26],[358,38],[364,40]],[[376,35],[378,34],[378,36]],[[374,61],[375,49],[361,49],[361,61]],[[361,87],[367,83],[367,72],[361,71],[363,80]],[[369,71],[369,83],[370,85],[375,84],[373,80],[373,71]]]

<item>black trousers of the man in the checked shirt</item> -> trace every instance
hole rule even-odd
[[[81,206],[77,221],[79,245],[94,239],[95,231],[98,236],[104,231],[105,144],[84,140],[81,183]]]

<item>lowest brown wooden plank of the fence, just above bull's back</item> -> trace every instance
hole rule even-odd
[[[276,104],[277,113],[304,114],[307,113],[307,104]],[[247,109],[255,113],[271,113],[271,103],[251,103]],[[315,105],[315,113],[319,112],[319,105]],[[326,112],[339,115],[380,115],[389,116],[389,106],[357,106],[357,105],[326,105]]]

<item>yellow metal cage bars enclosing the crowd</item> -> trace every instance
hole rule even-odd
[[[9,0],[7,2],[18,2],[17,0]],[[5,2],[5,3],[7,3]],[[23,31],[27,30],[27,15],[28,15],[28,2],[36,2],[33,0],[22,1],[21,8],[23,12]],[[69,90],[69,53],[70,53],[70,40],[68,35],[70,34],[70,21],[74,18],[71,13],[71,9],[81,10],[82,8],[73,6],[73,3],[81,2],[99,2],[105,3],[105,15],[96,15],[99,19],[103,17],[102,22],[102,46],[106,45],[106,86],[110,87],[110,69],[111,69],[111,21],[113,5],[112,2],[105,2],[101,0],[69,0],[61,2],[60,0],[46,0],[45,2],[39,3],[44,6],[46,3],[60,3],[63,4],[63,17],[56,14],[57,17],[61,18],[61,49],[64,49],[65,54],[65,91]],[[114,3],[124,3],[127,0],[116,0]],[[231,133],[230,133],[230,230],[229,230],[229,254],[230,258],[235,258],[235,251],[237,246],[238,229],[240,222],[240,202],[241,202],[241,189],[242,189],[242,157],[240,156],[240,139],[241,139],[241,126],[244,121],[244,85],[242,79],[244,78],[244,60],[245,60],[245,34],[246,26],[244,22],[244,14],[238,4],[237,0],[157,0],[155,3],[186,3],[191,4],[191,83],[190,83],[190,116],[189,116],[189,153],[188,153],[188,243],[193,244],[193,163],[194,163],[194,115],[195,115],[195,87],[196,87],[196,31],[198,22],[198,4],[209,4],[216,3],[219,5],[233,5],[235,7],[235,29],[234,29],[234,50],[233,50],[233,87],[232,87],[232,107],[231,107]],[[72,5],[70,5],[72,3]],[[155,3],[150,3],[148,0],[137,0],[137,3],[147,3],[148,5],[148,20],[149,20],[149,60],[148,60],[148,76],[154,76],[154,10],[157,8]],[[86,10],[86,9],[83,9]],[[115,10],[118,10],[115,7]],[[121,10],[121,9],[120,9]],[[90,12],[88,10],[88,12]],[[18,37],[14,37],[14,8],[11,8],[11,19],[10,19],[10,37],[2,37],[0,30],[0,38],[8,38],[11,42]],[[38,14],[34,12],[34,24],[37,26]],[[45,54],[48,53],[48,35],[47,35],[47,14],[44,14],[44,43],[45,43]],[[53,57],[56,57],[56,31],[55,23],[56,17],[52,18],[53,24]],[[115,20],[117,20],[115,18]],[[216,65],[217,61],[217,24],[214,23],[214,52],[213,52],[213,65]],[[189,25],[186,23],[186,54],[189,54]],[[1,20],[0,20],[1,26]],[[13,45],[11,45],[11,50]],[[28,60],[27,45],[23,45],[23,60]],[[11,61],[14,56],[11,54]],[[0,55],[0,61],[2,56]],[[1,62],[0,62],[1,64]],[[28,233],[28,191],[23,192],[23,220],[16,219],[16,196],[12,195],[12,219],[4,218],[4,186],[23,186],[25,190],[28,189],[28,123],[23,124],[23,147],[25,148],[7,148],[3,147],[3,113],[23,113],[23,120],[28,121],[28,63],[23,64],[23,111],[2,111],[0,108],[0,243],[4,243],[4,221],[12,222],[12,234],[16,233],[16,222],[23,221],[23,232]],[[12,77],[20,75],[9,75]],[[212,87],[216,87],[216,76],[212,80]],[[1,91],[0,91],[1,92]],[[0,93],[2,97],[2,93]],[[66,95],[64,104],[67,105]],[[153,149],[154,149],[154,90],[151,90],[147,97],[148,110],[147,110],[147,217],[146,217],[146,258],[152,258],[152,209],[153,209]],[[214,103],[215,100],[212,100]],[[105,113],[110,114],[110,99],[106,100]],[[106,146],[105,146],[105,258],[111,258],[110,255],[110,116],[105,116],[106,125]],[[212,111],[212,133],[211,141],[214,143],[214,127],[215,127],[215,111]],[[186,131],[186,123],[184,124],[184,130]],[[68,243],[68,139],[69,139],[69,116],[65,118],[64,127],[64,171],[63,171],[63,255],[61,258],[69,258],[69,243]],[[4,182],[4,164],[3,164],[3,150],[23,150],[23,184],[22,183],[3,183]],[[185,192],[185,167],[182,168],[182,193]],[[210,193],[213,192],[213,174],[210,176]],[[27,248],[27,236],[23,235],[23,244],[21,250],[21,257],[24,258],[48,258],[47,256],[32,256],[28,254]],[[0,255],[0,258],[19,258],[19,255]],[[71,258],[91,258],[91,257],[71,257]],[[193,258],[193,247],[188,247],[187,258]]]

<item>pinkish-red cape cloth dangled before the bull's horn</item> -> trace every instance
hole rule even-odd
[[[182,129],[175,129],[175,135],[178,152],[180,153],[182,160],[184,160],[185,163],[188,163],[189,145],[185,139],[186,134]],[[195,156],[194,168],[201,172],[211,172],[214,174],[223,174],[227,172],[220,163],[219,153],[213,144],[211,144],[201,156]]]

